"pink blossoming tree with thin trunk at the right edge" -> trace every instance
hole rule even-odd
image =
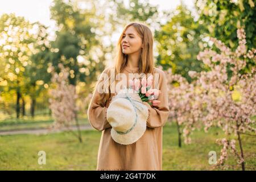
[[[225,131],[228,137],[234,134],[239,143],[240,154],[234,145],[236,140],[224,138],[217,141],[224,144],[221,158],[217,164],[224,163],[227,158],[226,151],[230,148],[237,156],[238,163],[241,164],[244,171],[245,158],[241,134],[256,133],[256,129],[253,127],[254,121],[250,119],[256,114],[256,50],[246,49],[245,30],[238,28],[237,36],[239,44],[236,51],[231,51],[220,40],[211,38],[210,40],[220,50],[220,53],[213,51],[213,49],[205,49],[197,56],[198,60],[208,65],[210,71],[190,72],[189,74],[192,77],[197,77],[195,84],[202,88],[201,102],[206,105],[205,108],[208,111],[203,119],[207,129],[217,125]],[[254,66],[250,68],[250,72],[241,74],[249,62],[253,62]],[[232,71],[230,77],[227,71],[228,64],[231,65]]]

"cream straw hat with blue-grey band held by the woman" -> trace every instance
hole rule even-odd
[[[106,118],[110,125],[111,137],[120,144],[131,144],[146,131],[148,108],[143,105],[138,93],[122,89],[112,98]]]

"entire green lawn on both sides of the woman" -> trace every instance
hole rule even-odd
[[[98,144],[101,133],[94,130],[82,131],[83,143],[71,133],[63,132],[48,135],[11,135],[0,137],[0,170],[94,170],[96,169]],[[177,146],[175,125],[167,123],[163,134],[163,170],[212,170],[208,163],[208,152],[216,151],[215,144],[222,138],[219,129],[205,134],[195,131],[192,144]],[[242,135],[246,169],[256,169],[256,139]],[[238,146],[237,146],[238,147]],[[38,152],[46,151],[46,165],[38,164]],[[236,158],[230,155],[228,170],[240,170]]]

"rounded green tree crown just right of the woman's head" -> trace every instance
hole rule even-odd
[[[203,48],[205,27],[194,20],[191,12],[184,5],[172,12],[170,19],[156,31],[158,42],[157,64],[163,69],[172,68],[172,72],[181,74],[188,81],[188,71],[200,72],[203,64],[196,60],[196,55]]]

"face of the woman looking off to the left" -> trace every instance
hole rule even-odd
[[[123,34],[121,46],[122,52],[126,55],[141,51],[142,39],[133,26],[128,27]]]

